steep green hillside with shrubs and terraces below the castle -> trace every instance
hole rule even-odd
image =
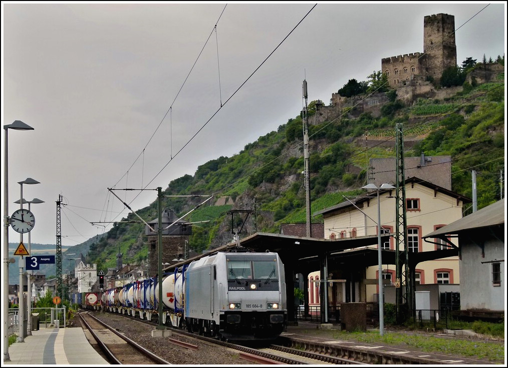
[[[407,101],[398,99],[393,90],[382,92],[379,99],[387,102],[377,111],[359,112],[353,104],[334,116],[328,114],[326,120],[318,119],[319,110],[312,101],[308,108],[311,213],[340,203],[343,195],[361,193],[368,160],[395,156],[398,123],[403,124],[405,157],[449,155],[454,192],[472,197],[471,170],[475,170],[478,209],[500,199],[504,195],[500,193],[504,187],[500,185],[504,88],[502,70],[486,83],[466,82],[441,90],[446,96],[441,99]],[[354,100],[366,97],[359,95]],[[240,237],[245,237],[256,231],[278,233],[284,223],[305,223],[302,124],[301,116],[290,118],[277,131],[246,144],[237,155],[210,160],[194,176],[184,175],[169,183],[166,196],[213,195],[184,218],[196,223],[190,249],[202,252],[231,242],[235,230],[241,229]],[[182,216],[203,201],[203,197],[165,197],[163,208]],[[228,214],[230,210],[235,214]],[[254,211],[256,216],[249,213]],[[156,202],[136,212],[147,220],[155,218]],[[464,215],[470,212],[468,208]],[[136,219],[131,213],[123,220]],[[320,220],[319,216],[312,219]],[[141,264],[148,254],[143,235],[141,223],[116,223],[102,239],[90,239],[87,259],[105,269],[113,267],[115,254],[121,251],[131,264]],[[74,253],[72,248],[69,252]]]

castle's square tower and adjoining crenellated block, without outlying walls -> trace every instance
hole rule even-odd
[[[381,59],[381,70],[395,89],[414,80],[439,82],[444,69],[456,65],[455,17],[442,13],[423,19],[423,53]]]

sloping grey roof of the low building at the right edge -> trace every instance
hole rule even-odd
[[[504,224],[504,198],[490,206],[484,207],[467,216],[464,216],[451,224],[443,226],[422,238],[435,238],[439,235],[458,234],[460,232],[487,228]]]

